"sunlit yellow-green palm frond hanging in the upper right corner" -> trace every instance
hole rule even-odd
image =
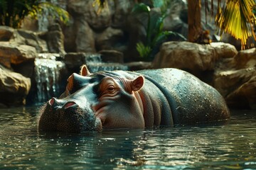
[[[254,6],[255,0],[228,0],[223,8],[218,6],[215,23],[219,27],[220,35],[223,31],[230,33],[234,38],[241,40],[242,49],[245,49],[247,39],[255,38],[255,15],[252,12]]]

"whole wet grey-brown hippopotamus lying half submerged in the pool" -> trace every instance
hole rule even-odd
[[[38,130],[100,132],[226,121],[230,111],[212,86],[180,69],[90,73],[68,78],[59,98],[41,109]]]

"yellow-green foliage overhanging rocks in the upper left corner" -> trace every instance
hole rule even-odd
[[[53,19],[59,18],[63,23],[68,23],[68,12],[49,1],[0,0],[0,26],[20,28],[25,16],[37,18],[37,15],[43,13],[43,9],[47,9]]]

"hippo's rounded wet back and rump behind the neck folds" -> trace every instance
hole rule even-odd
[[[144,88],[154,84],[166,96],[174,125],[227,120],[230,112],[223,97],[212,86],[179,69],[154,69],[144,74]],[[150,93],[150,90],[149,90]]]

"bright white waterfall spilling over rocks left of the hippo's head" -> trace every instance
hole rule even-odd
[[[65,64],[55,61],[58,54],[39,54],[35,60],[36,103],[47,101],[59,93],[60,70]]]

